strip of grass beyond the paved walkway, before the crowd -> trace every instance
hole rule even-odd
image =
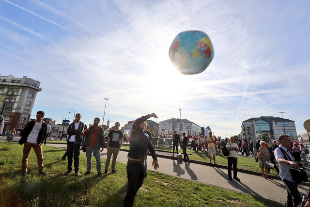
[[[167,147],[154,147],[154,148],[155,148],[155,150],[157,149],[157,150],[172,152],[172,149],[169,149]],[[122,149],[129,149],[129,146],[122,146]],[[179,152],[182,152],[182,150],[179,149]],[[190,156],[189,159],[195,159],[195,160],[200,160],[200,161],[204,161],[204,162],[210,161],[208,152],[205,152],[205,153],[202,153],[201,151],[195,152],[194,150],[190,150],[190,149],[187,149],[186,152],[188,154],[192,154],[192,156]],[[254,161],[255,159],[253,157],[251,157],[251,156],[245,157],[245,156],[241,156],[240,153],[238,153],[238,154],[239,154],[239,157],[238,157],[238,168],[239,169],[251,170],[251,171],[255,171],[255,172],[259,172],[259,173],[262,172],[262,170],[260,168],[260,163],[255,162]],[[216,156],[217,164],[227,165],[227,157],[225,157],[221,153],[217,153],[216,155],[217,155]],[[212,163],[213,163],[213,158],[212,158]],[[273,169],[270,169],[270,174],[279,176],[277,174],[277,171],[273,170]]]

